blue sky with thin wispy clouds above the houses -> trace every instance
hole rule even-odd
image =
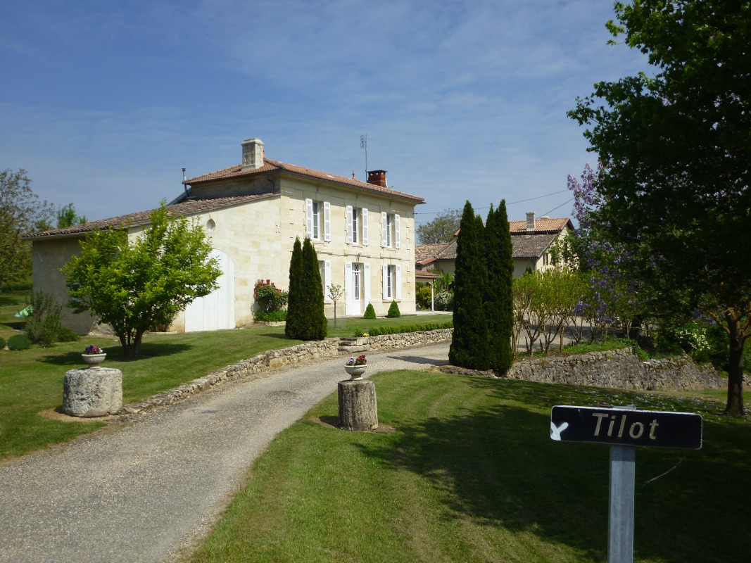
[[[0,170],[89,220],[152,209],[188,176],[269,158],[424,197],[418,223],[504,198],[571,214],[587,153],[566,117],[647,71],[608,46],[608,0],[60,0],[0,5]],[[517,203],[518,202],[518,203]]]

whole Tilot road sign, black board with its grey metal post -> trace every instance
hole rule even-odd
[[[701,416],[692,413],[556,406],[550,411],[555,441],[610,444],[608,563],[634,560],[636,446],[701,448]]]

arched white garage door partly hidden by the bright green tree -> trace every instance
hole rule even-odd
[[[185,332],[233,329],[234,321],[234,263],[221,250],[212,250],[211,257],[219,262],[222,275],[216,280],[219,288],[206,297],[199,297],[185,308]]]

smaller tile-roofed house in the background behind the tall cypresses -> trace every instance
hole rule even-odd
[[[532,272],[543,271],[553,264],[550,247],[557,239],[566,236],[574,225],[569,218],[535,218],[535,212],[527,212],[526,221],[508,221],[511,230],[514,278],[529,268]],[[454,274],[457,261],[457,241],[415,247],[415,267],[418,270],[450,272]]]

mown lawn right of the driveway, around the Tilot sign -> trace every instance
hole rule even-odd
[[[722,402],[429,372],[373,378],[392,433],[282,432],[186,561],[605,561],[608,446],[551,441],[550,407],[704,415],[701,450],[640,448],[635,560],[751,560],[751,425]],[[322,423],[321,423],[322,422]]]

